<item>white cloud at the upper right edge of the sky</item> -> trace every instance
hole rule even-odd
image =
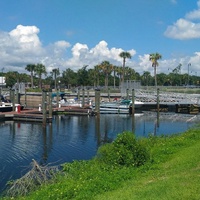
[[[200,19],[200,1],[197,2],[197,6],[198,9],[186,13],[184,18],[168,26],[164,35],[179,40],[200,38],[200,23],[193,21]]]

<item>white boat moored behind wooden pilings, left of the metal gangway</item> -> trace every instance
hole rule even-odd
[[[135,108],[139,108],[144,104],[140,101],[135,101]],[[122,100],[117,102],[102,102],[100,103],[100,113],[119,113],[119,114],[129,114],[132,106],[131,100]],[[93,109],[95,105],[93,104]]]

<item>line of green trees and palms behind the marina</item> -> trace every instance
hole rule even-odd
[[[144,71],[142,75],[136,72],[133,68],[126,66],[126,59],[131,59],[129,52],[121,52],[119,56],[122,58],[122,66],[115,66],[109,61],[102,61],[93,68],[88,68],[84,65],[77,72],[71,68],[60,71],[59,68],[54,68],[48,74],[46,66],[43,64],[28,64],[25,67],[30,74],[19,73],[17,71],[9,71],[0,73],[6,77],[6,85],[12,87],[15,83],[29,82],[31,87],[42,88],[43,85],[50,85],[51,88],[58,87],[77,87],[77,86],[112,86],[118,87],[126,80],[140,81],[143,86],[182,86],[182,85],[198,85],[199,77],[197,74],[181,74],[181,64],[174,69],[169,68],[169,73],[157,74],[156,70],[159,66],[158,60],[162,58],[159,53],[149,54],[149,60],[152,63],[154,75],[151,76],[149,71]]]

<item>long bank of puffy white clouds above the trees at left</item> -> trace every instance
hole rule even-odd
[[[89,48],[87,44],[76,43],[73,46],[64,40],[43,46],[38,36],[40,30],[36,26],[18,25],[10,32],[0,32],[0,65],[7,71],[25,72],[25,67],[30,63],[42,63],[47,72],[53,68],[65,70],[71,68],[74,71],[89,65],[93,68],[100,62],[107,60],[120,66],[122,59],[119,54],[124,51],[121,48],[109,48],[106,41],[102,40],[97,45]],[[134,49],[128,50],[132,56],[136,54]],[[127,64],[132,65],[127,60]]]

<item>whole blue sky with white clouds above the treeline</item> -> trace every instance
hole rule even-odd
[[[200,0],[0,0],[0,70],[25,72],[30,63],[48,71],[89,68],[104,60],[142,74],[149,54],[162,55],[158,73],[179,63],[200,69]],[[200,73],[198,74],[200,75]]]

